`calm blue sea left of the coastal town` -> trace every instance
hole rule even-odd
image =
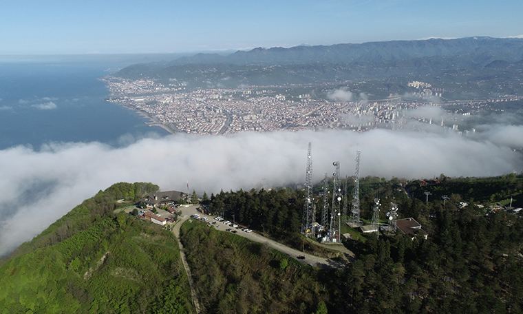
[[[159,56],[153,56],[153,59]],[[173,59],[175,56],[167,56]],[[0,57],[0,149],[38,151],[48,143],[100,142],[121,147],[167,136],[147,118],[105,101],[99,79],[147,56]]]

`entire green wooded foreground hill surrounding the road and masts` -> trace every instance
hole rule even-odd
[[[204,313],[523,313],[522,211],[504,208],[523,205],[522,176],[359,182],[365,222],[377,196],[381,222],[394,202],[399,218],[420,222],[428,238],[342,224],[355,258],[324,271],[209,222],[185,222],[181,240]],[[117,200],[134,203],[157,189],[113,185],[2,260],[0,313],[194,313],[173,233],[114,211]],[[314,240],[299,233],[303,195],[240,189],[202,205],[309,251]]]

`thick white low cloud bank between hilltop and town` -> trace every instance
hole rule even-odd
[[[30,240],[85,198],[115,182],[146,181],[163,190],[200,195],[239,188],[303,183],[308,142],[313,177],[354,174],[361,150],[362,176],[431,178],[495,176],[520,171],[523,160],[510,147],[523,146],[522,126],[493,127],[475,140],[456,132],[275,132],[235,136],[177,134],[136,140],[127,147],[100,143],[52,143],[39,150],[0,151],[0,256]]]

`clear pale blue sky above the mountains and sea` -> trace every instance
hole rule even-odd
[[[17,0],[0,54],[195,52],[520,36],[521,0]]]

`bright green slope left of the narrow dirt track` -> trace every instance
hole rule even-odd
[[[173,234],[114,213],[157,190],[118,183],[22,244],[1,261],[0,313],[194,313]]]

